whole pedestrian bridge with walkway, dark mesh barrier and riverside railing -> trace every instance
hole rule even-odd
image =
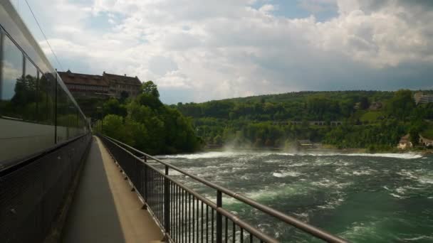
[[[214,189],[216,202],[174,171]],[[1,242],[280,242],[224,209],[223,195],[306,232],[308,242],[345,242],[103,135],[0,171]]]

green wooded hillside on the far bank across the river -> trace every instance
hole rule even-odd
[[[417,106],[413,95],[410,90],[292,92],[172,108],[192,118],[197,136],[207,144],[282,147],[310,139],[375,151],[395,148],[405,134],[433,139],[428,121],[433,119],[433,104]],[[334,126],[335,121],[342,125]]]

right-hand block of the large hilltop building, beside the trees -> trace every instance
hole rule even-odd
[[[115,97],[121,97],[122,93],[126,93],[128,97],[136,97],[141,92],[142,83],[137,76],[128,77],[103,72],[103,79],[108,82],[110,93]]]

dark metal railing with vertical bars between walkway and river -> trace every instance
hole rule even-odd
[[[244,195],[192,175],[158,158],[143,153],[127,144],[108,136],[98,135],[119,164],[132,188],[154,215],[155,220],[165,232],[166,241],[172,242],[278,242],[249,225],[232,212],[224,209],[222,195],[228,195],[246,205],[256,208],[281,222],[301,229],[311,236],[325,242],[346,242],[321,229],[301,222],[294,217],[246,198]],[[160,171],[148,161],[156,161],[164,166]],[[203,195],[187,188],[169,176],[169,170],[197,180],[216,190],[216,203]]]

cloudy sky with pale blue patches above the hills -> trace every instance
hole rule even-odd
[[[162,102],[433,89],[431,0],[11,0],[58,70],[154,81]]]

